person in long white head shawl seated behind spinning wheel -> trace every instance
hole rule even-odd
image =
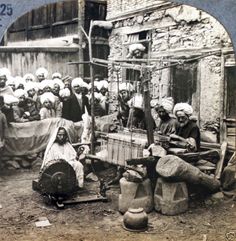
[[[82,188],[84,184],[83,165],[77,160],[77,153],[74,150],[70,136],[64,127],[57,128],[52,134],[44,153],[41,170],[49,161],[56,159],[64,159],[73,167],[78,186]]]

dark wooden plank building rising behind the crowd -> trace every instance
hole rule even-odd
[[[45,66],[50,74],[61,72],[64,76],[76,77],[84,72],[83,75],[89,77],[87,65],[68,65],[67,62],[78,61],[81,56],[88,60],[88,45],[83,36],[78,36],[79,26],[88,31],[90,20],[105,20],[107,6],[106,1],[101,0],[84,1],[81,8],[78,4],[78,0],[49,4],[20,17],[4,37],[0,64],[10,68],[13,75],[35,73],[39,66]],[[83,38],[82,46],[79,46],[79,38]],[[94,29],[94,57],[107,59],[108,54],[107,31]],[[79,71],[79,68],[84,70]],[[95,73],[107,75],[103,67],[97,67]]]

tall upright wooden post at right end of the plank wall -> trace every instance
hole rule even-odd
[[[78,37],[79,37],[79,61],[84,61],[84,53],[83,53],[83,32],[81,27],[84,27],[84,18],[85,18],[85,0],[78,0]],[[84,76],[84,66],[79,65],[79,76]]]

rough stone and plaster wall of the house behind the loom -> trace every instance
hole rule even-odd
[[[118,2],[111,6],[108,1],[108,12],[110,14],[108,14],[108,18],[117,14],[118,9],[115,8],[118,7],[126,9],[126,11],[123,11],[123,16],[126,16],[130,5],[137,1],[119,2],[122,2],[122,6]],[[145,4],[150,6],[151,2],[157,3],[157,1],[142,1],[136,8],[144,7]],[[151,36],[149,56],[160,59],[160,62],[156,63],[159,67],[169,64],[168,61],[170,60],[189,60],[232,46],[229,36],[221,24],[207,13],[188,6],[138,12],[135,15],[114,20],[113,24],[114,29],[109,40],[110,59],[124,57],[124,49],[127,48],[127,43],[124,41],[125,36],[139,31],[149,32]],[[221,65],[224,63],[217,54],[196,59],[196,61],[198,63],[198,84],[192,102],[195,114],[198,115],[203,124],[206,121],[215,121],[222,111],[223,97],[220,95],[220,88],[223,75]],[[110,79],[111,74],[112,72],[109,71]],[[154,70],[152,85],[151,94],[153,97],[168,96],[170,68],[160,71]]]

